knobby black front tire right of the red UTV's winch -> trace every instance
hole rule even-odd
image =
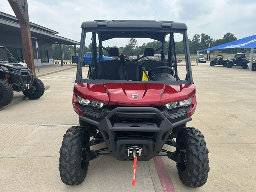
[[[181,159],[177,162],[180,180],[189,187],[203,186],[210,170],[204,136],[194,127],[185,127],[179,131],[176,142],[181,145],[181,148],[176,148]]]

